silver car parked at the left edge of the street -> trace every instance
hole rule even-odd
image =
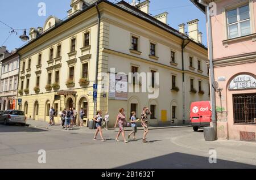
[[[21,110],[5,110],[0,115],[0,123],[8,125],[10,123],[17,123],[25,126],[27,122],[27,117]]]

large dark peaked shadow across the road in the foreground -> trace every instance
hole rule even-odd
[[[226,160],[217,160],[217,164],[210,164],[208,157],[189,155],[185,153],[171,153],[164,156],[154,157],[143,161],[134,162],[119,166],[114,169],[256,169],[256,166],[232,162]]]

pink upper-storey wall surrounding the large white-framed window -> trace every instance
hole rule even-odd
[[[222,44],[225,38],[225,25],[224,17],[222,14],[222,9],[227,5],[233,5],[237,2],[241,2],[241,0],[225,0],[217,2],[217,15],[212,16],[212,35],[213,35],[213,58],[223,58],[229,57],[232,55],[244,54],[256,52],[256,41],[252,41],[251,38],[247,40],[238,40],[236,42],[232,42],[229,44],[227,48]],[[249,1],[248,1],[249,2]],[[254,7],[254,21],[256,20],[256,0],[253,0]],[[256,22],[255,22],[256,24]],[[256,28],[255,28],[256,29]],[[252,31],[252,30],[251,30]],[[256,33],[256,32],[251,32]]]

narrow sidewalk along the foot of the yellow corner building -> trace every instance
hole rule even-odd
[[[34,120],[27,120],[27,125],[30,127],[38,127],[38,128],[45,128],[49,130],[57,130],[57,131],[62,131],[63,128],[60,127],[60,123],[55,123],[55,126],[49,126],[48,122],[44,121],[34,121]],[[156,127],[148,127],[149,130],[158,130],[158,129],[165,129],[165,128],[179,128],[179,127],[190,127],[188,125],[186,126],[156,126]],[[138,131],[142,131],[143,127],[138,127]],[[73,127],[73,131],[81,131],[81,132],[86,132],[86,131],[93,131],[90,130],[88,127]],[[110,128],[109,131],[118,131],[118,128]],[[131,131],[131,128],[127,128],[126,131]]]

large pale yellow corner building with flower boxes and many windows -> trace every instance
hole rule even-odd
[[[31,41],[18,50],[19,109],[30,119],[49,121],[50,106],[58,112],[82,107],[86,119],[92,119],[97,83],[97,109],[109,112],[112,126],[122,107],[130,117],[132,110],[140,114],[148,106],[151,125],[189,122],[191,102],[209,100],[208,52],[198,20],[188,22],[188,36],[185,24],[180,31],[166,24],[167,12],[149,15],[149,1],[88,2],[73,0],[67,20],[50,16],[43,28],[31,28]],[[127,75],[158,72],[159,96],[110,92],[111,68]]]

